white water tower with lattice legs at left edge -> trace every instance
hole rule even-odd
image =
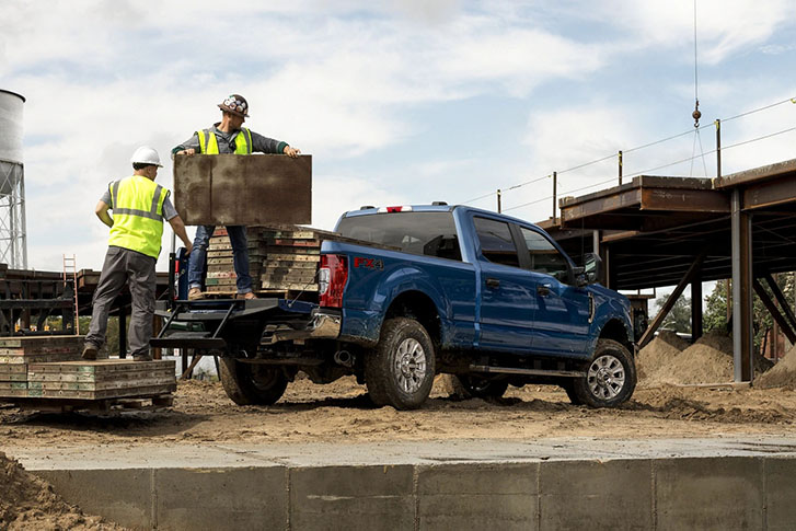
[[[12,269],[27,269],[23,103],[22,95],[0,89],[0,263]]]

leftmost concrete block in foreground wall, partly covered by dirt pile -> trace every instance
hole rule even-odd
[[[89,515],[101,515],[130,529],[154,527],[149,469],[37,470],[33,473]]]

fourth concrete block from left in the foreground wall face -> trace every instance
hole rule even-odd
[[[420,466],[419,529],[534,530],[538,474],[538,463]]]

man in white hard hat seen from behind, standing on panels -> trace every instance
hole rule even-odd
[[[140,147],[132,153],[132,175],[112,182],[94,212],[111,228],[100,284],[94,290],[91,325],[85,336],[83,359],[96,359],[105,344],[107,314],[114,299],[127,284],[132,298],[128,332],[130,354],[136,361],[151,360],[149,338],[154,315],[154,264],[160,254],[163,219],[191,252],[193,245],[185,223],[169,199],[169,191],[154,183],[163,168],[158,152]],[[113,210],[113,218],[108,210]]]

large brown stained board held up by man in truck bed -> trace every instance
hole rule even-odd
[[[174,206],[186,224],[310,223],[312,157],[177,155]]]

